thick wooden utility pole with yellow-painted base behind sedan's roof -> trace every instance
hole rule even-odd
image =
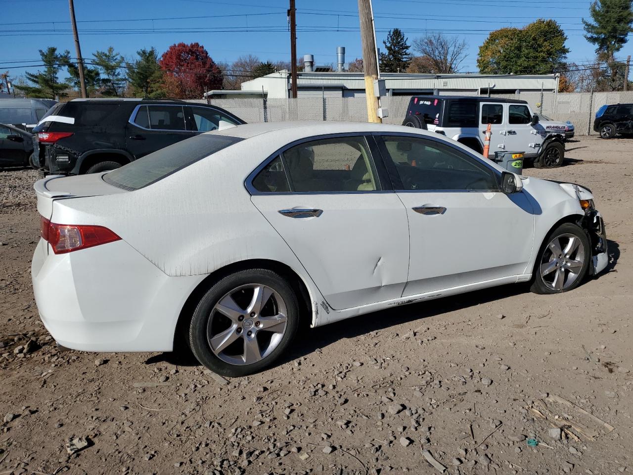
[[[378,117],[378,98],[373,93],[373,82],[378,79],[376,37],[373,29],[372,0],[358,0],[360,38],[363,44],[363,71],[365,72],[365,98],[368,122],[382,122]]]

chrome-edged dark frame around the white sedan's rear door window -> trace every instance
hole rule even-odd
[[[382,156],[376,157],[374,156],[375,154],[372,153],[372,146],[368,141],[368,137],[371,137],[371,136],[372,134],[370,132],[344,132],[344,133],[339,133],[339,134],[322,134],[318,136],[310,136],[310,137],[304,137],[303,139],[297,139],[296,141],[285,144],[282,148],[277,149],[275,153],[268,156],[266,160],[261,162],[260,165],[258,165],[258,167],[256,167],[248,175],[248,177],[246,177],[246,180],[244,181],[244,187],[246,187],[246,191],[248,191],[248,193],[250,193],[251,196],[394,193],[393,189],[385,189],[386,186],[380,180],[380,174],[378,173],[378,170],[375,170],[376,168],[375,162],[376,160],[382,160]],[[307,143],[307,142],[314,142],[317,140],[324,140],[324,139],[337,139],[337,138],[342,138],[342,137],[362,137],[363,139],[365,139],[365,144],[367,145],[367,151],[369,152],[370,160],[372,160],[372,167],[374,168],[372,172],[374,172],[375,174],[375,180],[379,182],[380,184],[380,189],[361,190],[361,191],[358,191],[358,190],[356,191],[259,191],[253,186],[253,180],[255,179],[255,177],[261,172],[261,170],[266,168],[268,164],[272,162],[273,160],[275,160],[275,158],[277,158],[278,156],[282,157],[282,163],[284,163],[284,170],[287,168],[285,166],[285,160],[283,158],[283,153],[287,149],[292,148],[299,144]],[[287,172],[286,172],[286,177],[287,177]],[[289,185],[290,185],[290,180],[289,180]],[[390,186],[391,184],[387,184],[387,185]]]

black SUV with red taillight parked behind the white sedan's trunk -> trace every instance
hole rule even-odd
[[[246,124],[219,107],[156,99],[73,99],[33,129],[34,168],[80,175],[121,167],[189,137]]]

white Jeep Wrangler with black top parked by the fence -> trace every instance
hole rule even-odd
[[[490,149],[523,152],[537,168],[555,168],[565,158],[565,131],[546,130],[526,101],[477,96],[417,96],[411,98],[402,125],[445,135],[473,150],[484,151],[487,125]]]

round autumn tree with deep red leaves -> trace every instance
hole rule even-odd
[[[161,56],[160,66],[170,97],[201,99],[204,92],[222,89],[222,70],[201,44],[172,44]]]

